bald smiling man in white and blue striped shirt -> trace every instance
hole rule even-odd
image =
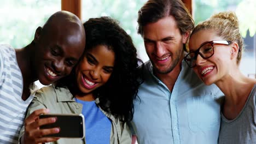
[[[18,143],[27,106],[33,99],[34,81],[49,85],[67,76],[84,48],[83,23],[68,11],[51,15],[26,47],[0,45],[0,143]],[[38,115],[48,112],[35,111],[25,124],[36,127]]]

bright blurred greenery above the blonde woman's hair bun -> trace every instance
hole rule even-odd
[[[254,0],[194,0],[194,20],[195,24],[208,19],[211,15],[220,11],[235,11],[240,21],[240,30],[245,38],[249,29],[252,37],[256,32],[256,1]]]

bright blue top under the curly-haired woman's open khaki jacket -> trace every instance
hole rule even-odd
[[[95,101],[77,99],[83,105],[82,114],[85,119],[86,144],[107,144],[110,142],[111,121],[95,104]]]

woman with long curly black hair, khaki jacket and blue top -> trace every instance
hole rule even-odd
[[[27,115],[42,108],[50,113],[84,115],[84,140],[59,139],[52,143],[130,144],[127,122],[133,117],[132,101],[141,80],[138,62],[142,61],[137,58],[131,37],[113,19],[89,19],[84,28],[86,49],[78,65],[65,79],[40,89]],[[25,127],[25,133],[31,131]],[[38,133],[42,135],[31,139],[33,143],[49,142],[42,136],[59,133],[58,128],[41,131]]]

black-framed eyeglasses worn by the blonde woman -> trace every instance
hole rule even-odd
[[[232,43],[232,41],[229,41],[229,40],[212,40],[212,41],[205,41],[205,43],[202,43],[201,45],[200,45],[200,47],[196,50],[196,51],[193,51],[193,52],[189,52],[185,57],[184,57],[184,61],[188,64],[188,66],[190,67],[190,68],[193,68],[193,67],[195,67],[195,63],[193,64],[191,61],[196,61],[196,58],[197,58],[197,56],[198,55],[200,55],[203,59],[207,59],[207,58],[210,58],[210,57],[212,57],[213,55],[214,55],[214,44],[223,44],[223,45],[230,45]],[[212,55],[211,56],[208,56],[208,57],[204,57],[203,55],[202,55],[202,53],[200,52],[200,49],[201,49],[201,47],[203,46],[203,45],[205,45],[205,44],[211,44],[212,45],[212,50],[213,50],[213,52],[212,52]],[[191,53],[195,53],[195,56],[193,57],[193,58],[188,58],[188,56],[189,55],[191,55]],[[191,64],[193,64],[192,66],[189,64],[191,62]]]

